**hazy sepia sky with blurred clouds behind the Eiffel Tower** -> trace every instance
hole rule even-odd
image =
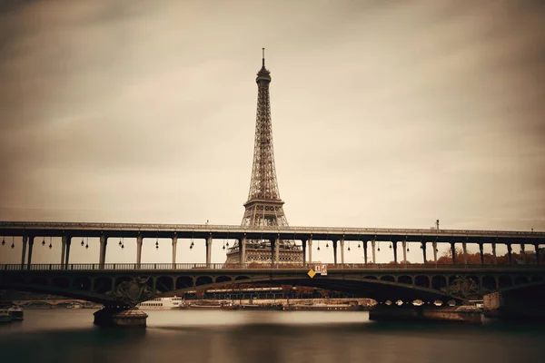
[[[290,225],[544,231],[544,20],[538,0],[2,1],[0,221],[240,224],[265,47]]]

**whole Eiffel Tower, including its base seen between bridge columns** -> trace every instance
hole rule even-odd
[[[272,148],[271,101],[269,84],[271,72],[265,68],[263,48],[262,68],[255,79],[257,83],[257,116],[253,147],[253,167],[248,201],[244,203],[242,226],[261,228],[287,226],[283,201],[278,191],[274,152]],[[270,240],[246,240],[245,253],[240,253],[240,241],[227,253],[227,263],[271,263]],[[292,240],[280,240],[279,263],[302,263],[302,249]]]

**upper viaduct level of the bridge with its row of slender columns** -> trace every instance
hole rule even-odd
[[[455,260],[456,244],[463,249],[463,263],[467,263],[467,245],[470,243],[479,246],[481,263],[484,263],[483,247],[490,244],[494,262],[496,262],[496,246],[505,244],[508,250],[508,262],[512,263],[512,247],[520,246],[522,257],[526,259],[526,248],[530,246],[536,254],[536,260],[540,261],[540,245],[545,244],[545,232],[527,231],[463,231],[463,230],[419,230],[419,229],[380,229],[380,228],[333,228],[333,227],[253,227],[230,226],[208,224],[146,224],[146,223],[69,223],[69,222],[0,222],[0,236],[17,236],[23,238],[23,252],[21,264],[32,263],[32,251],[35,237],[61,237],[62,255],[61,264],[68,264],[70,259],[70,245],[73,238],[95,237],[100,239],[99,261],[104,267],[106,259],[106,247],[109,238],[135,238],[136,256],[135,262],[141,263],[142,244],[144,239],[172,239],[173,264],[176,263],[176,245],[179,238],[203,240],[206,252],[206,264],[211,263],[212,243],[218,239],[238,240],[236,247],[241,248],[244,256],[246,240],[270,240],[272,261],[278,264],[280,240],[301,240],[303,262],[307,258],[312,261],[312,241],[325,240],[332,242],[333,260],[344,263],[345,241],[361,241],[365,262],[376,262],[375,251],[380,248],[380,243],[389,243],[392,257],[398,262],[398,245],[401,242],[403,260],[406,260],[406,250],[411,244],[418,244],[422,250],[423,263],[427,263],[426,250],[431,243],[433,260],[437,261],[437,247],[440,243],[447,243],[452,251],[452,263]],[[3,240],[4,242],[4,240]],[[28,250],[27,250],[28,245]],[[340,260],[338,249],[340,247]],[[368,250],[371,250],[371,256]],[[25,262],[26,260],[26,262]],[[523,261],[525,262],[525,261]]]

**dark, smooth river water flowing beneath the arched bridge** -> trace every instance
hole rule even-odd
[[[0,325],[0,362],[545,362],[543,326],[376,323],[361,311],[146,311],[147,329],[93,309],[26,309]]]

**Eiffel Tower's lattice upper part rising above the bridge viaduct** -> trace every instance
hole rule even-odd
[[[283,212],[283,201],[278,191],[274,152],[272,148],[271,101],[269,84],[271,72],[265,68],[263,48],[262,68],[255,79],[257,83],[257,116],[253,168],[248,201],[244,203],[243,226],[287,226]]]

